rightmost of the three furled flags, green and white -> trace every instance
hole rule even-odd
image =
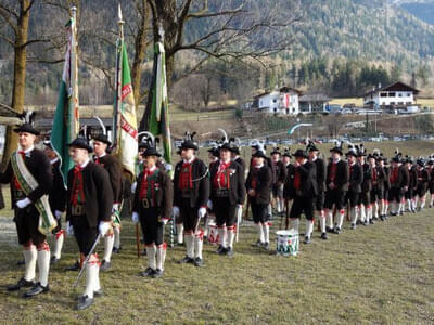
[[[149,119],[149,131],[161,136],[164,159],[171,161],[170,129],[168,119],[168,98],[166,80],[166,56],[164,46],[157,42],[154,47],[154,82],[152,90],[152,106]]]

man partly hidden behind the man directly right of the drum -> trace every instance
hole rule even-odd
[[[324,212],[326,162],[322,158],[318,157],[319,150],[314,142],[309,141],[306,151],[309,155],[309,161],[314,162],[315,167],[317,168],[316,180],[318,194],[316,196],[315,209],[318,211],[319,214],[321,238],[327,239]]]

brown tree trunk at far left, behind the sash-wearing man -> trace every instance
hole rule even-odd
[[[17,34],[15,36],[14,44],[14,80],[12,89],[12,108],[18,113],[23,113],[24,109],[24,95],[26,87],[26,61],[27,51],[25,43],[27,42],[28,36],[28,21],[30,11],[27,10],[30,4],[30,0],[21,0],[20,3],[20,17],[17,20]],[[17,146],[17,135],[13,132],[13,127],[7,128],[4,139],[4,151],[1,160],[1,169],[4,170],[7,167],[12,153]]]

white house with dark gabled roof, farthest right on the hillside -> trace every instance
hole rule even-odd
[[[407,107],[416,104],[416,95],[419,90],[400,81],[387,87],[380,87],[363,95],[365,105],[374,107],[394,106]]]

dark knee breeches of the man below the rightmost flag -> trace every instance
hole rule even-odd
[[[155,243],[156,246],[164,243],[163,238],[163,222],[158,221],[158,211],[156,208],[139,209],[139,220],[142,227],[142,234],[145,245]]]

